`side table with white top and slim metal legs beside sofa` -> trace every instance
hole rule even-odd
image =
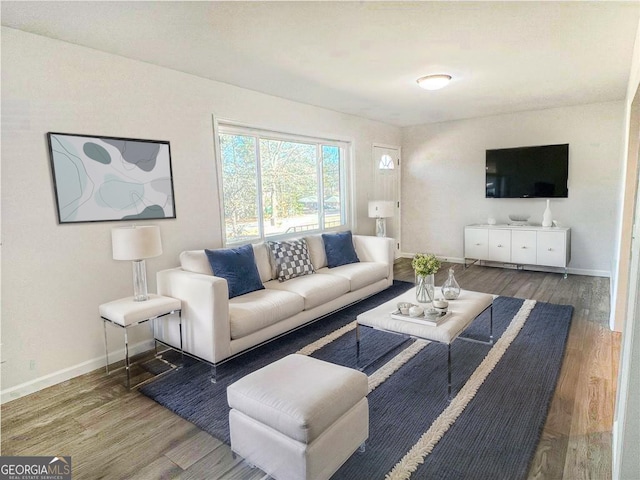
[[[131,388],[131,363],[129,361],[129,338],[127,334],[127,330],[129,328],[152,321],[154,325],[154,345],[156,346],[156,357],[158,357],[158,341],[155,339],[155,320],[157,318],[164,317],[165,315],[177,314],[180,323],[180,354],[184,359],[184,351],[182,349],[182,305],[180,303],[180,300],[171,297],[163,297],[161,295],[149,294],[149,299],[142,302],[134,301],[133,297],[126,297],[119,300],[114,300],[112,302],[103,303],[102,305],[100,305],[98,310],[100,312],[100,318],[103,320],[104,327],[104,346],[105,356],[107,359],[107,374],[110,373],[109,346],[107,343],[107,323],[111,323],[112,325],[120,327],[124,330],[125,369],[127,371],[128,389]],[[170,345],[167,346],[171,347]],[[176,365],[165,360],[163,361],[170,367],[172,367],[172,369],[177,368]],[[171,370],[167,370],[167,372],[169,371]],[[157,378],[157,376],[154,378]],[[136,386],[139,385],[140,384]]]

